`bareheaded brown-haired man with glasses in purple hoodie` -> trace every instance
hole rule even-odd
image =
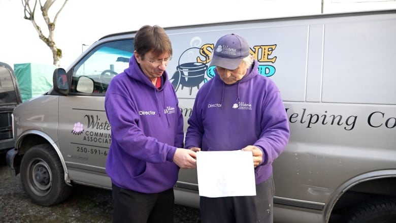
[[[196,167],[196,153],[183,149],[183,117],[165,71],[169,37],[145,25],[134,46],[129,67],[111,80],[105,99],[113,222],[173,222],[173,186],[179,168]]]

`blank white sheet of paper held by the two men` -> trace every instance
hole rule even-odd
[[[196,171],[200,196],[255,196],[251,151],[199,151]]]

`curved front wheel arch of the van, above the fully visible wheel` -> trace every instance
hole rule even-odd
[[[14,158],[14,168],[16,169],[16,171],[19,172],[22,156],[26,153],[26,151],[29,150],[31,147],[39,144],[50,144],[52,148],[56,151],[56,154],[58,155],[64,171],[64,181],[68,185],[72,186],[71,180],[69,178],[68,168],[62,156],[62,153],[60,152],[58,144],[54,142],[52,138],[49,137],[47,134],[37,130],[28,130],[22,133],[16,141],[15,145],[18,149],[18,155]]]

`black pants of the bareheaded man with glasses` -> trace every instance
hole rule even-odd
[[[112,184],[113,222],[174,222],[173,188],[156,194],[143,194]]]

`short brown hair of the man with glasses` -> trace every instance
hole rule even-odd
[[[172,56],[172,43],[165,30],[158,25],[144,25],[135,35],[135,50],[144,59],[147,52],[154,55],[169,53]]]

